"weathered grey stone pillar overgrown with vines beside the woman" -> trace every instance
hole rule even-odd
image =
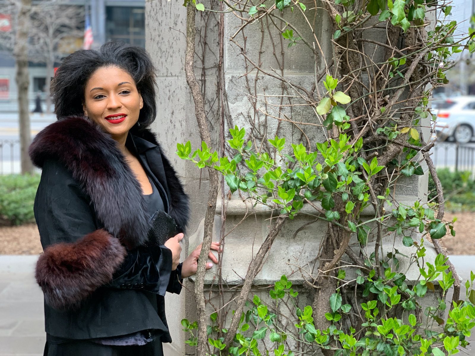
[[[205,7],[215,8],[216,3],[205,2]],[[292,118],[297,122],[310,122],[319,124],[319,119],[308,106],[285,106],[304,103],[295,95],[289,84],[278,79],[284,76],[290,82],[312,90],[315,76],[323,68],[324,59],[328,62],[333,60],[331,38],[333,33],[329,30],[329,19],[323,10],[313,14],[307,10],[310,19],[316,20],[317,37],[323,48],[325,58],[315,58],[312,51],[302,44],[288,48],[288,40],[282,37],[280,29],[285,28],[285,23],[277,21],[276,26],[268,19],[256,22],[244,32],[239,32],[234,40],[238,45],[229,40],[242,25],[240,19],[233,14],[227,14],[224,22],[224,86],[227,95],[227,116],[225,132],[229,127],[237,125],[245,127],[248,133],[252,132],[257,139],[265,137],[286,137],[287,144],[310,141],[312,149],[315,142],[325,141],[325,133],[321,127],[300,125],[299,130],[295,125],[273,118]],[[298,11],[293,14],[286,12],[286,17],[293,21],[306,38],[313,40],[314,36]],[[177,142],[191,141],[193,148],[200,145],[199,131],[194,113],[194,104],[186,83],[184,73],[185,56],[185,32],[186,32],[186,9],[181,3],[167,0],[146,0],[146,48],[151,54],[157,69],[158,83],[158,115],[153,129],[158,133],[159,141],[163,150],[171,160],[181,180],[185,184],[185,190],[191,197],[192,218],[188,229],[187,248],[192,251],[202,241],[203,220],[208,196],[208,179],[205,169],[199,170],[192,166],[189,161],[179,159],[174,152]],[[205,89],[205,101],[208,118],[211,122],[212,140],[218,140],[218,121],[216,112],[217,91],[217,66],[218,66],[218,20],[216,13],[197,14],[197,31],[201,38],[196,39],[195,73],[201,85]],[[279,29],[277,29],[277,28]],[[296,35],[295,35],[296,36]],[[245,47],[249,60],[256,66],[260,66],[266,73],[272,74],[272,78],[257,72],[250,62],[245,62],[241,55],[240,47]],[[315,63],[317,65],[315,65]],[[205,69],[203,69],[203,67]],[[277,78],[276,78],[277,77]],[[319,88],[322,91],[323,85]],[[267,103],[264,103],[263,99]],[[283,105],[283,106],[282,106]],[[279,106],[280,109],[279,109]],[[264,113],[266,112],[266,114]],[[298,126],[298,124],[297,124]],[[259,140],[258,140],[259,141]],[[260,142],[260,141],[259,141]],[[425,169],[427,170],[427,169]],[[427,192],[427,174],[401,181],[400,195],[403,202],[412,204],[418,197]],[[222,278],[229,287],[242,284],[246,275],[247,266],[252,257],[257,253],[260,244],[269,231],[269,218],[276,213],[270,209],[259,207],[253,208],[249,203],[239,199],[234,194],[228,200],[228,188],[226,187],[226,237],[225,252],[222,261]],[[215,240],[219,239],[221,227],[221,198],[218,197],[218,206],[215,219]],[[366,209],[366,215],[371,216],[371,208]],[[312,209],[304,208],[311,212]],[[231,229],[241,223],[232,232]],[[374,211],[373,215],[374,217]],[[294,285],[299,288],[304,283],[305,275],[302,275],[297,265],[304,265],[316,256],[322,235],[326,229],[325,223],[318,221],[299,230],[299,228],[312,220],[308,215],[300,214],[293,221],[289,221],[272,246],[264,267],[258,273],[256,285],[269,285],[279,280],[282,274],[289,276]],[[296,233],[296,231],[298,233]],[[406,253],[408,248],[398,241],[395,246],[401,253]],[[356,237],[354,241],[356,242]],[[388,246],[393,245],[393,238],[386,237],[383,241]],[[371,242],[369,243],[371,245]],[[373,243],[374,246],[374,243]],[[428,248],[428,260],[434,258],[435,252]],[[374,250],[374,247],[373,247]],[[185,253],[184,253],[185,254]],[[184,256],[183,256],[184,257]],[[309,267],[310,268],[310,267]],[[312,265],[316,271],[317,266]],[[401,270],[405,267],[401,265]],[[207,273],[207,283],[210,288],[216,288],[217,268]],[[418,271],[414,271],[413,278],[417,278]],[[349,276],[351,273],[347,273]],[[411,272],[408,272],[411,278]],[[212,287],[214,285],[214,287]],[[195,320],[194,297],[192,291],[194,285],[188,281],[178,296],[167,296],[167,316],[173,337],[173,344],[165,346],[166,355],[184,355],[185,335],[181,331],[180,320],[185,316],[190,321]],[[232,291],[226,293],[226,298],[232,295]],[[266,292],[267,293],[267,292]],[[305,296],[303,295],[303,298]],[[227,302],[228,300],[226,300]],[[218,299],[216,299],[218,303]],[[311,301],[305,301],[310,302]],[[211,310],[211,309],[210,309]],[[210,311],[211,312],[211,311]],[[228,314],[230,316],[231,313]]]

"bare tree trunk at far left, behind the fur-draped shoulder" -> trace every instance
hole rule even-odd
[[[14,56],[16,62],[15,81],[18,87],[18,113],[20,131],[21,173],[33,173],[33,164],[28,156],[31,130],[28,110],[28,27],[31,0],[21,0],[18,14],[18,31],[15,39]]]

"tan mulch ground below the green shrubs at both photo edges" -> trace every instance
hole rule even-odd
[[[447,233],[440,240],[441,244],[449,254],[475,255],[475,213],[446,212],[444,219],[451,221],[454,217],[458,219],[456,236]],[[36,224],[0,227],[0,254],[38,254],[42,251]]]

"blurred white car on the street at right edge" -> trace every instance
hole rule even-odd
[[[434,102],[433,107],[437,110],[437,138],[458,143],[472,140],[475,133],[475,95]]]

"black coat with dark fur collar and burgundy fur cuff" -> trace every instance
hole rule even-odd
[[[184,231],[188,197],[154,135],[129,134],[126,145]],[[69,117],[39,132],[29,152],[42,168],[34,212],[44,253],[36,279],[45,295],[47,334],[90,339],[154,329],[171,342],[163,296],[180,292],[181,266],[171,271],[165,246],[144,247],[142,189],[115,141],[86,119]],[[131,282],[114,281],[131,259]]]

